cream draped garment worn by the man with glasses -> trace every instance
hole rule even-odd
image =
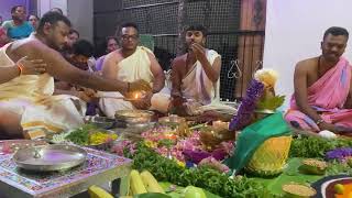
[[[118,63],[118,73],[116,75],[116,79],[129,82],[143,79],[150,82],[151,87],[153,87],[154,76],[151,72],[151,61],[148,58],[147,53],[153,54],[148,48],[138,46],[135,52],[131,56]],[[120,92],[116,91],[101,92],[100,95],[102,95],[103,97],[123,97]],[[167,110],[168,100],[168,96],[165,97],[164,95],[160,96],[158,94],[155,94],[152,97],[151,109],[158,110],[158,108],[155,108],[154,106],[162,103],[162,107],[166,107]],[[114,113],[118,110],[135,109],[131,102],[116,98],[101,98],[99,101],[99,106],[102,112],[109,118],[114,118]]]

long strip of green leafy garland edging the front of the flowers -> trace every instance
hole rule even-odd
[[[178,186],[196,186],[221,197],[267,197],[266,188],[253,179],[242,177],[232,179],[210,167],[185,168],[176,161],[163,157],[139,143],[132,155],[133,168],[147,169],[160,182],[170,182]]]

